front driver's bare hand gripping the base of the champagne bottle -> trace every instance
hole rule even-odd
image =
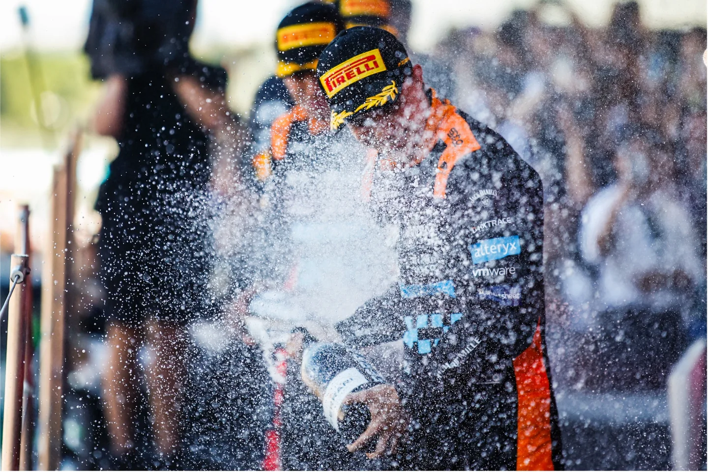
[[[350,403],[367,405],[371,412],[371,422],[355,442],[348,444],[347,449],[350,452],[358,451],[372,439],[377,439],[376,449],[366,453],[369,459],[375,459],[384,453],[394,454],[407,426],[396,389],[392,385],[383,384],[350,393],[344,404]]]

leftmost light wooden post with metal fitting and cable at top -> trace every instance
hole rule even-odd
[[[22,430],[22,392],[25,379],[25,326],[28,289],[28,256],[13,254],[10,280],[21,275],[10,299],[7,320],[7,357],[5,364],[5,403],[2,428],[2,470],[17,471],[20,468],[20,440]],[[12,284],[12,282],[10,282]]]

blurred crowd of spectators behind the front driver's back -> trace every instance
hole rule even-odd
[[[434,54],[453,102],[542,176],[549,330],[581,346],[563,384],[661,389],[704,336],[705,49],[705,28],[649,30],[632,1],[599,29],[540,4]]]

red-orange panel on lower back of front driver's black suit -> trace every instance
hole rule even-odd
[[[541,324],[533,342],[514,359],[518,395],[516,470],[552,471],[551,386],[543,362]]]

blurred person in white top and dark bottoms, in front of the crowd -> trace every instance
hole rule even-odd
[[[581,251],[598,272],[588,388],[661,390],[685,347],[683,321],[705,267],[672,156],[641,130],[617,150],[617,183],[583,210]]]

